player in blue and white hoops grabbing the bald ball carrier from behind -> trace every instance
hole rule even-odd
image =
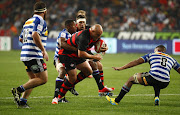
[[[77,48],[72,47],[66,43],[66,40],[71,37],[73,33],[76,32],[76,24],[74,20],[66,20],[65,21],[65,29],[63,29],[57,38],[56,42],[56,50],[54,54],[54,66],[58,72],[58,77],[56,78],[56,85],[55,85],[55,92],[54,92],[54,98],[52,100],[52,104],[58,104],[58,94],[59,94],[59,89],[64,82],[64,76],[66,74],[66,71],[64,69],[64,66],[60,63],[58,57],[58,52],[61,48],[71,50],[71,51],[77,51]],[[78,94],[74,88],[71,89],[71,93],[73,94]],[[65,97],[59,102],[68,102]]]

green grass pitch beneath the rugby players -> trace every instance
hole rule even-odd
[[[161,90],[160,106],[154,106],[152,87],[133,85],[131,91],[118,106],[112,106],[105,97],[98,96],[94,78],[87,78],[76,85],[79,96],[70,92],[66,97],[69,103],[52,105],[57,72],[53,66],[54,52],[49,51],[48,82],[33,90],[28,104],[31,109],[17,109],[13,102],[11,88],[22,85],[28,80],[24,64],[19,60],[20,51],[0,52],[0,115],[179,115],[180,114],[180,75],[171,70],[171,82]],[[112,66],[122,66],[144,54],[106,54],[101,61],[104,66],[104,82],[115,87],[116,97],[122,85],[136,72],[149,71],[149,64],[142,64],[123,71],[114,71]],[[173,56],[180,63],[180,56]]]

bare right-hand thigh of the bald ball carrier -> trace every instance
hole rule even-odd
[[[77,65],[77,68],[82,71],[86,76],[92,74],[92,68],[87,61]]]

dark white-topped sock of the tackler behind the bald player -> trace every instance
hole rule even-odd
[[[61,85],[63,84],[64,79],[61,79],[59,77],[56,78],[56,87],[55,87],[55,92],[54,92],[54,98],[58,97],[59,94],[59,89],[61,87]]]

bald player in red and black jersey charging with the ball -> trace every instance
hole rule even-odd
[[[62,84],[58,98],[64,97],[71,87],[92,74],[92,68],[86,59],[101,60],[102,57],[100,54],[88,54],[86,51],[100,39],[102,33],[102,26],[96,24],[88,30],[74,34],[67,40],[67,43],[76,47],[78,51],[59,50],[59,60],[64,65],[69,78]],[[81,71],[78,75],[77,69]]]

